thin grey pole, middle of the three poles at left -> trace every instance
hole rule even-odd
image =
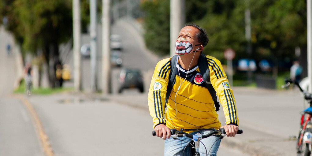
[[[90,65],[91,65],[91,90],[97,90],[97,30],[96,30],[96,14],[97,14],[96,0],[90,0]]]

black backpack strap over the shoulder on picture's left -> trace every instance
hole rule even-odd
[[[168,81],[168,86],[167,86],[167,92],[166,92],[166,100],[165,100],[165,104],[168,103],[169,100],[169,96],[173,87],[173,84],[175,82],[175,77],[176,77],[176,73],[177,73],[177,68],[176,68],[176,62],[178,56],[172,56],[171,61],[170,61],[170,66],[171,66],[171,70],[169,73],[169,81]]]

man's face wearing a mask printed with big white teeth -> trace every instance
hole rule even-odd
[[[183,27],[176,41],[176,54],[185,55],[195,51],[195,45],[199,44],[196,34],[199,30],[192,26]],[[196,46],[196,48],[198,48]]]

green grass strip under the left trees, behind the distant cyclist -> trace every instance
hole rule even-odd
[[[38,94],[38,95],[49,95],[49,94],[55,94],[55,93],[61,93],[64,91],[72,90],[73,88],[35,88],[32,89],[32,94]],[[13,91],[13,93],[25,93],[25,81],[22,80],[20,85],[16,90]]]

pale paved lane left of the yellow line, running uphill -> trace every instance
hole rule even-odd
[[[11,44],[7,55],[6,45]],[[22,101],[11,95],[17,74],[12,36],[0,27],[0,155],[43,156],[31,116]]]

